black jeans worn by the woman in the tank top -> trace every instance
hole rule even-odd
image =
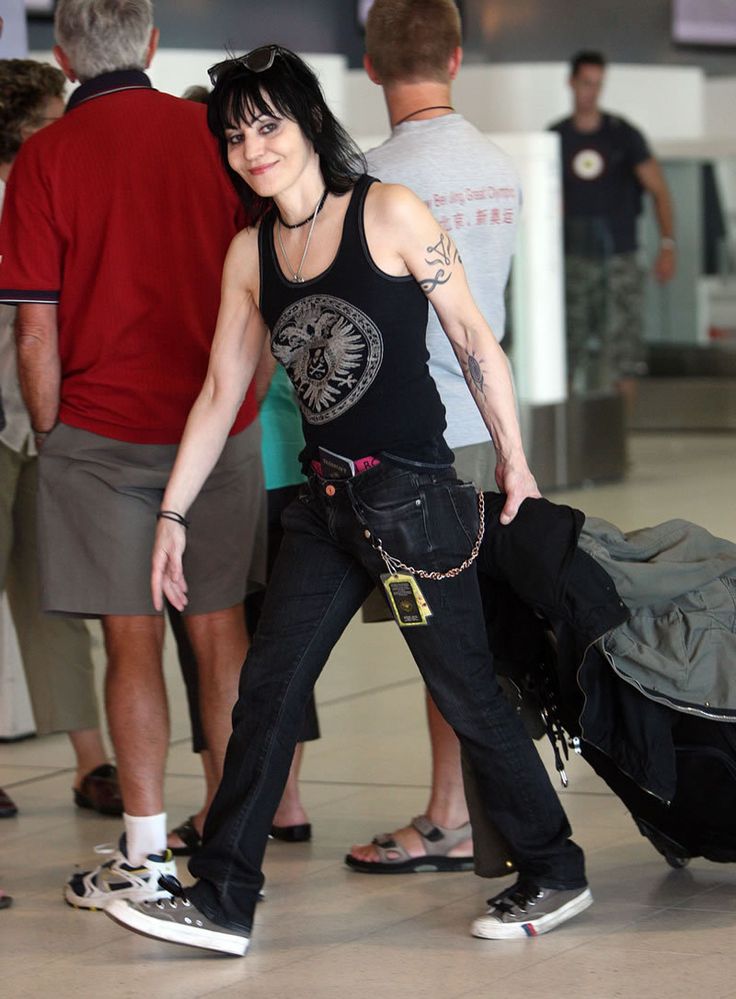
[[[240,681],[222,783],[189,893],[214,922],[249,930],[261,862],[299,737],[330,651],[385,566],[371,534],[409,565],[444,571],[478,529],[474,487],[452,469],[384,462],[347,480],[310,478],[284,513],[285,537]],[[583,853],[536,749],[501,692],[474,570],[420,580],[432,610],[403,631],[438,708],[457,732],[517,870],[550,888],[585,885]]]

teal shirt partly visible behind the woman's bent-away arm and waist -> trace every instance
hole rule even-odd
[[[304,476],[299,452],[304,447],[302,418],[289,376],[279,364],[260,411],[266,489],[298,485]]]

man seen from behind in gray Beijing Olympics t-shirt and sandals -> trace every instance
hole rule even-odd
[[[391,121],[391,138],[368,153],[369,171],[412,188],[450,232],[473,297],[501,340],[519,184],[509,157],[451,106],[451,83],[462,60],[453,0],[376,0],[368,17],[366,50],[366,72],[383,87]],[[427,346],[447,410],[446,438],[458,476],[480,489],[493,489],[495,449],[431,306]],[[429,695],[427,714],[433,773],[425,814],[370,844],[353,846],[346,863],[355,870],[387,874],[473,866],[460,745]],[[497,846],[486,825],[476,822],[475,847],[476,859],[483,853],[488,870]],[[501,867],[504,860],[501,856]]]

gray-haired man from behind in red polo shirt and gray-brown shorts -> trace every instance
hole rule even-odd
[[[55,50],[81,86],[23,147],[0,232],[0,300],[41,455],[39,547],[49,612],[99,617],[125,837],[66,898],[140,899],[173,873],[163,619],[149,573],[163,489],[207,369],[222,264],[242,227],[205,109],[152,89],[151,0],[60,0]],[[249,394],[192,508],[187,623],[208,747],[221,766],[247,638],[242,601],[263,501]],[[164,515],[177,517],[176,511]]]

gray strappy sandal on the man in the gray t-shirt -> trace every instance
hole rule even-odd
[[[361,874],[424,874],[440,871],[457,872],[472,871],[472,857],[448,857],[463,840],[470,839],[472,830],[470,823],[457,829],[446,829],[438,826],[426,815],[418,815],[411,820],[411,825],[422,837],[426,853],[421,857],[412,857],[405,847],[398,843],[392,833],[381,833],[373,839],[373,845],[378,851],[380,860],[358,860],[349,853],[345,863]]]

